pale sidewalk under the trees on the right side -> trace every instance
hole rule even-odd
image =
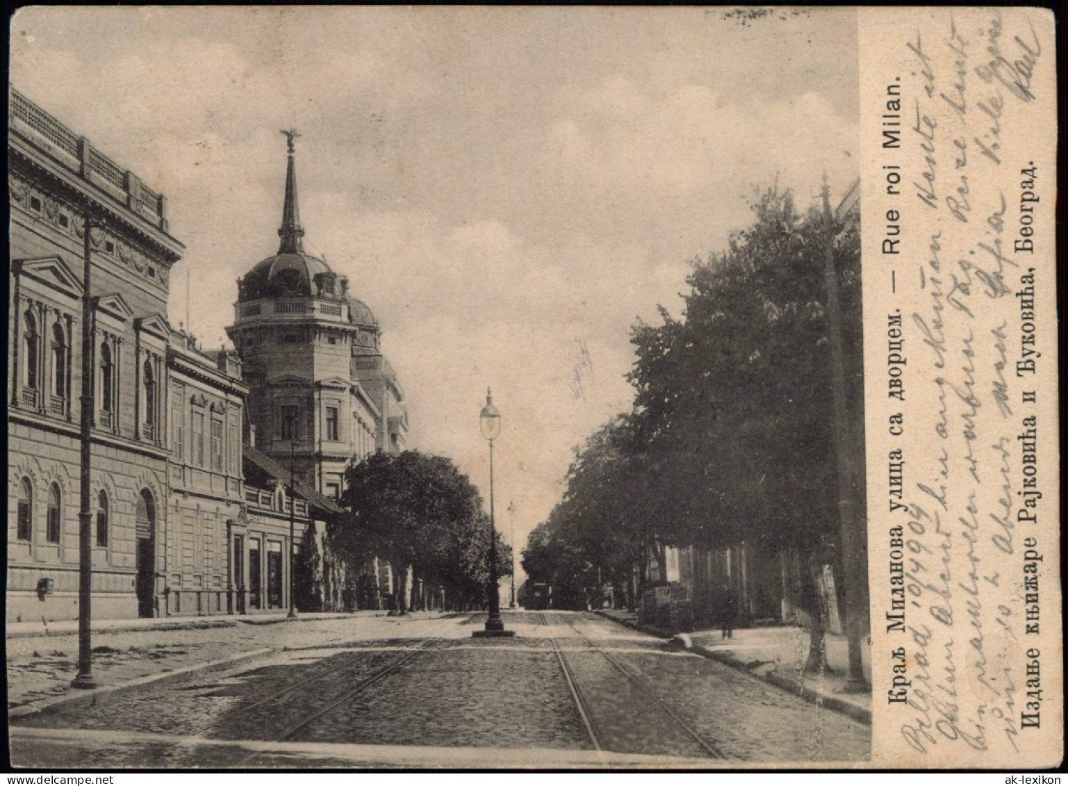
[[[638,614],[619,609],[597,611],[610,619],[630,628],[663,636],[665,631],[639,626]],[[811,702],[845,712],[854,720],[871,723],[871,693],[845,693],[848,673],[848,644],[846,636],[828,633],[824,638],[829,670],[822,674],[804,674],[808,656],[808,631],[804,628],[784,626],[768,628],[741,628],[734,636],[723,639],[716,630],[697,630],[675,636],[687,649],[706,658],[718,660],[778,688],[800,695]],[[864,676],[871,681],[870,649],[863,648]]]

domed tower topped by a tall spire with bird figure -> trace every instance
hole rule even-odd
[[[396,412],[389,411],[394,402],[379,400],[380,378],[393,375],[382,374],[389,365],[374,314],[348,294],[348,279],[304,251],[294,160],[299,135],[283,133],[288,160],[278,253],[238,279],[226,333],[252,388],[250,441],[283,467],[292,457],[299,480],[337,496],[349,463],[390,442],[403,394],[394,379]]]

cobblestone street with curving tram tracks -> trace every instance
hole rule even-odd
[[[708,767],[868,755],[868,726],[670,642],[591,614],[504,617],[517,638],[471,639],[483,615],[116,633],[127,648],[107,666],[115,677],[124,664],[130,678],[161,660],[276,650],[14,719],[12,755],[100,767]],[[9,642],[10,677],[30,642],[56,646]],[[32,680],[14,676],[25,698],[20,681]]]

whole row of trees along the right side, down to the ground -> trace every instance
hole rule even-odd
[[[860,222],[826,189],[823,209],[775,188],[752,207],[693,261],[681,318],[632,329],[633,408],[576,452],[523,551],[524,595],[675,629],[801,623],[819,665],[847,609],[867,625],[849,564],[865,543]]]

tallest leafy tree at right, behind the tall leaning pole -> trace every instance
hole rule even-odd
[[[695,263],[682,319],[638,326],[635,428],[658,468],[664,521],[677,543],[726,546],[744,538],[798,548],[808,580],[800,600],[822,626],[813,582],[836,560],[838,516],[824,254],[818,210],[770,189],[755,221],[727,251]],[[850,438],[862,460],[859,222],[834,220],[844,315]],[[859,494],[859,489],[855,489]],[[861,507],[860,509],[863,509]],[[841,572],[839,572],[841,576]]]

